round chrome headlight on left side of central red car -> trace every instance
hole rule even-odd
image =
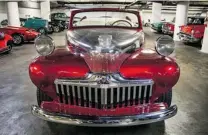
[[[41,35],[35,39],[35,47],[37,52],[43,56],[51,54],[55,49],[53,39],[46,35]]]

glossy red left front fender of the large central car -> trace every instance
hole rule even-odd
[[[52,55],[37,57],[29,66],[32,82],[49,96],[56,97],[53,87],[56,78],[85,78],[90,70],[84,59],[67,48],[56,49]]]

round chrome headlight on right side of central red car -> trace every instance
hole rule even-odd
[[[173,53],[174,49],[175,49],[175,43],[173,41],[173,38],[168,36],[168,35],[164,35],[159,37],[156,40],[156,51],[163,56],[168,56],[171,53]]]

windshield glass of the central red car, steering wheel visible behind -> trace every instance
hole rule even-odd
[[[81,18],[73,27],[84,26],[119,26],[119,27],[139,27],[138,17],[134,13],[129,12],[80,12],[75,14],[73,22],[76,18]]]

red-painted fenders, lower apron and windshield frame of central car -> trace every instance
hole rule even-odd
[[[121,11],[120,9],[103,8],[75,10],[72,11],[70,21],[72,22],[73,16],[76,13],[92,10],[95,12],[100,10]],[[125,12],[134,12],[139,16],[137,11]],[[141,23],[140,17],[138,19]],[[73,31],[73,29],[72,23],[70,23],[69,30]],[[142,30],[142,25],[136,30]],[[69,44],[66,48],[57,48],[49,56],[39,56],[29,66],[29,75],[32,82],[53,99],[52,102],[42,102],[41,108],[44,110],[62,114],[117,116],[155,112],[167,108],[166,104],[156,104],[155,100],[177,83],[180,69],[173,59],[161,56],[155,50],[143,48],[138,49],[133,54],[128,54],[128,57],[122,62],[118,73],[126,79],[152,79],[154,86],[149,104],[106,110],[61,104],[56,95],[55,79],[84,79],[88,73],[92,72],[90,66],[87,64],[87,60],[80,55],[72,53],[72,46]]]

